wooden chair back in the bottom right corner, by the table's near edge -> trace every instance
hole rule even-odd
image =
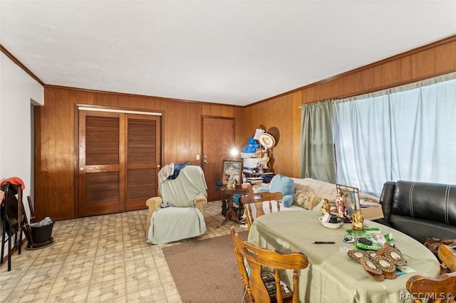
[[[414,275],[407,280],[405,286],[412,295],[413,302],[453,302],[456,299],[456,272],[437,277]]]

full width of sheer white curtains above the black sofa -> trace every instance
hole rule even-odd
[[[385,181],[456,184],[456,73],[334,107],[336,180],[380,196]]]

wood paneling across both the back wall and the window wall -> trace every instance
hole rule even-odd
[[[261,126],[277,141],[273,149],[274,171],[299,177],[300,105],[360,95],[453,71],[456,71],[456,36],[247,107],[47,85],[44,106],[37,107],[35,112],[36,217],[75,218],[76,104],[162,112],[162,164],[190,161],[201,165],[201,160],[196,160],[196,154],[202,153],[201,116],[234,117],[239,150]]]

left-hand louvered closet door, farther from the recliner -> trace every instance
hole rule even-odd
[[[79,216],[125,210],[125,118],[79,111]]]

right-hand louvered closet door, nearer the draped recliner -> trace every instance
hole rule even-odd
[[[125,211],[145,208],[157,193],[160,116],[127,115]]]

